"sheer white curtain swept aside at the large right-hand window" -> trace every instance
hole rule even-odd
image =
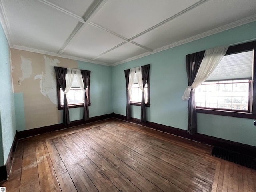
[[[208,49],[204,53],[204,58],[196,74],[196,78],[191,86],[188,86],[182,96],[182,100],[189,100],[191,89],[195,89],[202,84],[214,71],[226,54],[228,46],[221,46]]]

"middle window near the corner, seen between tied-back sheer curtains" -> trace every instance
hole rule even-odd
[[[146,104],[146,107],[149,107],[149,76],[148,76],[147,82],[145,84],[144,90],[146,92],[146,98],[148,98],[148,102],[145,101],[145,104]],[[134,83],[132,86],[131,94],[132,94],[132,98],[130,98],[130,104],[140,106],[141,98],[142,98],[142,90],[140,89],[140,87],[138,85],[138,80],[137,80],[136,75],[134,78]]]

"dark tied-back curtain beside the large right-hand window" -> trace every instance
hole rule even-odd
[[[188,86],[191,86],[196,78],[196,74],[204,57],[204,52],[197,52],[186,55],[186,69],[188,75]],[[191,89],[188,100],[188,133],[194,135],[197,132],[196,102],[195,92]]]

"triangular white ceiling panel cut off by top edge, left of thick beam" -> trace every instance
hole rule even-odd
[[[90,10],[90,6],[94,0],[48,0],[48,2],[82,17],[84,13]]]

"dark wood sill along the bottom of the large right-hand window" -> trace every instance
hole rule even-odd
[[[246,113],[246,112],[222,111],[222,110],[202,109],[202,108],[197,108],[196,112],[205,113],[205,114],[230,116],[230,117],[238,117],[238,118],[246,118],[246,119],[256,119],[256,114]]]

